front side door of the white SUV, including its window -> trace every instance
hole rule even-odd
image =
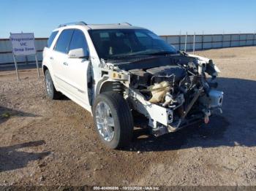
[[[91,79],[88,75],[89,70],[89,47],[83,31],[74,29],[69,50],[82,48],[84,58],[67,58],[64,65],[63,74],[66,77],[67,90],[75,97],[76,101],[83,104],[86,109],[90,108],[88,82]]]

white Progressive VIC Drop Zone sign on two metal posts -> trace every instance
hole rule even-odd
[[[39,66],[37,61],[37,50],[34,44],[34,33],[23,33],[23,32],[21,32],[21,34],[10,33],[10,42],[12,43],[12,55],[15,63],[15,70],[16,70],[18,80],[20,80],[20,76],[18,74],[18,64],[15,56],[34,55],[35,61],[37,64],[37,74],[39,78],[40,73],[39,73]]]

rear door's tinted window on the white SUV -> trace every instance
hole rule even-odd
[[[61,32],[55,50],[67,54],[69,50],[69,43],[72,38],[73,29],[67,29]]]

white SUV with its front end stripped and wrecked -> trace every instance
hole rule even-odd
[[[91,112],[100,139],[113,149],[129,144],[135,113],[160,136],[207,123],[222,106],[213,61],[177,51],[129,23],[59,26],[48,39],[42,69],[48,97],[63,93]]]

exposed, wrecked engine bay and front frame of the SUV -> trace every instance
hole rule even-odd
[[[223,92],[216,90],[219,69],[195,55],[153,57],[113,63],[110,78],[124,85],[124,97],[148,118],[155,136],[196,122],[209,122],[221,110]]]

